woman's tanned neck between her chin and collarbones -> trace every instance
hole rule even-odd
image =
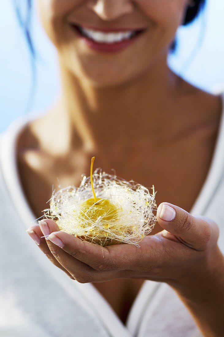
[[[116,87],[94,87],[74,77],[62,64],[62,106],[66,112],[70,134],[75,130],[86,150],[106,146],[115,139],[130,141],[148,131],[146,119],[153,130],[165,111],[164,95],[169,97],[175,87],[175,76],[166,65],[166,58],[132,82]],[[167,124],[164,125],[167,127]],[[151,132],[150,130],[150,132]]]

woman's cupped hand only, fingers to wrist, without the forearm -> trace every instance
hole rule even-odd
[[[140,248],[130,244],[100,247],[59,231],[50,219],[29,231],[35,231],[47,257],[81,283],[139,278],[181,287],[201,282],[219,268],[219,230],[212,220],[162,203],[157,221],[164,231],[146,236]]]

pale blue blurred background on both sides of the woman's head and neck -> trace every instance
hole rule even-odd
[[[224,88],[223,13],[223,0],[207,0],[203,15],[188,28],[180,28],[179,48],[169,59],[175,71],[210,92]],[[42,111],[59,91],[58,67],[54,47],[36,15],[32,32],[39,57],[37,88],[29,110]],[[12,1],[0,0],[0,132],[26,113],[31,83],[30,56]]]

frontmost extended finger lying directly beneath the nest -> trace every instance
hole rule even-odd
[[[143,251],[141,247],[135,245],[118,244],[101,247],[61,231],[51,233],[48,239],[70,256],[98,271],[132,269],[139,265],[139,261],[142,262]]]

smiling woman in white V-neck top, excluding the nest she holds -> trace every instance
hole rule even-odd
[[[166,62],[178,26],[202,3],[38,1],[62,95],[2,136],[1,335],[223,335],[222,97]],[[42,220],[28,229],[33,245],[25,226],[41,217],[52,185],[79,185],[93,155],[105,172],[155,185],[153,235],[102,258]]]

